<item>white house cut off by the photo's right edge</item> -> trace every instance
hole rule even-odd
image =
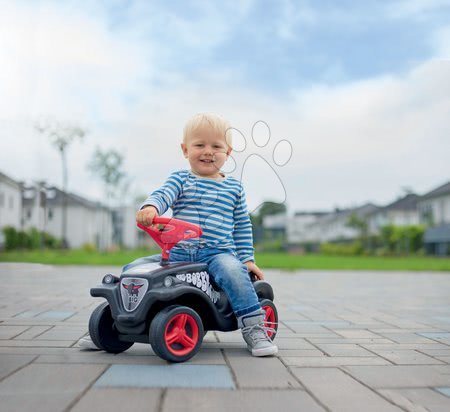
[[[450,182],[426,193],[417,204],[420,221],[430,227],[424,236],[428,253],[450,254]]]

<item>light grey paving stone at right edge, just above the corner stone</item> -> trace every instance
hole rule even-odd
[[[372,388],[450,386],[450,369],[444,365],[345,366],[356,379]],[[445,366],[444,366],[445,368]]]

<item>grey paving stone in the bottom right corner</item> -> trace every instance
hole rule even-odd
[[[448,412],[450,399],[429,388],[380,389],[385,398],[412,412]]]

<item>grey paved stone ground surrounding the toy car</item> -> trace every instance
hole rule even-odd
[[[450,273],[267,271],[279,355],[211,333],[185,364],[81,351],[118,268],[0,264],[0,409],[450,411]]]

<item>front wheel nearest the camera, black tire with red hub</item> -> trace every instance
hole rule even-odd
[[[203,323],[187,306],[164,308],[150,324],[150,344],[156,355],[169,362],[185,362],[200,349]]]

